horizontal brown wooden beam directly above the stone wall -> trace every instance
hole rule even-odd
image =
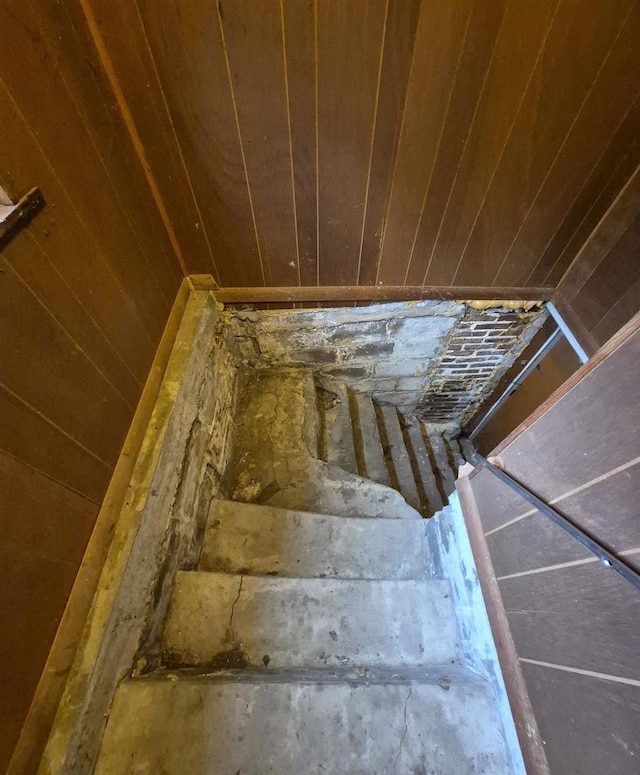
[[[298,301],[505,300],[548,301],[555,288],[483,286],[321,285],[280,288],[211,288],[223,304]]]

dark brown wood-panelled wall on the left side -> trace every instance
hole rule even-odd
[[[0,771],[182,272],[86,25],[0,3],[0,185],[45,209],[0,252]]]

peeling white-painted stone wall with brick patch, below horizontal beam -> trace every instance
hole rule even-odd
[[[473,414],[546,317],[539,309],[476,310],[453,301],[227,314],[248,365],[307,366],[442,423]]]

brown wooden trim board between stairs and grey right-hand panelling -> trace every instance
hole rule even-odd
[[[525,769],[528,775],[550,775],[544,744],[529,699],[529,691],[511,635],[469,478],[466,476],[459,478],[456,481],[456,490],[478,570],[480,589],[487,607],[489,624],[496,644]]]

